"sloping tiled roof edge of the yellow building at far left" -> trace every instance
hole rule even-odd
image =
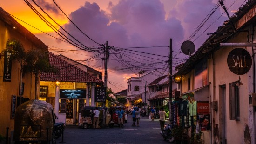
[[[34,43],[34,45],[43,48],[48,49],[48,46],[46,46],[40,39],[38,39],[34,34],[32,34],[30,31],[28,31],[24,26],[20,25],[9,13],[7,13],[2,7],[0,7],[0,20],[2,20],[6,26],[13,29],[15,27],[15,31],[17,33],[20,33],[24,37],[26,36],[26,39],[31,40],[31,42]]]

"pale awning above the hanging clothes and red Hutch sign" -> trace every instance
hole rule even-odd
[[[188,93],[194,93],[195,101],[209,101],[209,85],[204,85],[200,88],[184,92],[182,95],[184,96]]]

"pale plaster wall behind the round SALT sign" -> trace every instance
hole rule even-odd
[[[240,33],[235,39],[232,39],[229,42],[246,42],[246,39],[244,38],[246,38],[246,33]],[[241,80],[244,85],[240,85],[239,89],[240,120],[230,120],[229,118],[229,83],[238,81],[239,75],[236,75],[229,70],[227,57],[229,52],[235,48],[237,47],[223,47],[214,53],[214,61],[213,59],[209,60],[210,99],[211,101],[218,102],[218,111],[211,110],[212,131],[221,130],[217,135],[212,133],[213,141],[215,141],[213,143],[216,144],[221,144],[223,131],[226,131],[227,144],[245,144],[245,126],[249,124],[248,93],[251,91],[251,83],[249,83],[249,78],[252,74],[251,70],[248,73],[241,75]],[[248,47],[245,49],[252,54],[251,48]],[[226,97],[224,98],[224,101],[222,101],[220,94],[221,85],[226,86]],[[223,103],[225,107],[222,108],[222,105],[219,105],[220,103]],[[226,116],[224,122],[226,128],[221,127],[222,124],[220,124],[220,121],[222,120],[221,112],[223,111],[225,111]]]

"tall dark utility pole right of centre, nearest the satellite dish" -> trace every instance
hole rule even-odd
[[[169,55],[169,120],[173,125],[173,117],[171,116],[172,109],[172,39],[170,39],[170,55]]]

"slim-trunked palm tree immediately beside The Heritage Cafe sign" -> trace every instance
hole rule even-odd
[[[8,39],[6,42],[6,49],[3,52],[12,52],[13,59],[16,59],[20,64],[20,104],[22,98],[22,75],[23,75],[23,68],[26,61],[26,52],[24,46],[15,39]]]

